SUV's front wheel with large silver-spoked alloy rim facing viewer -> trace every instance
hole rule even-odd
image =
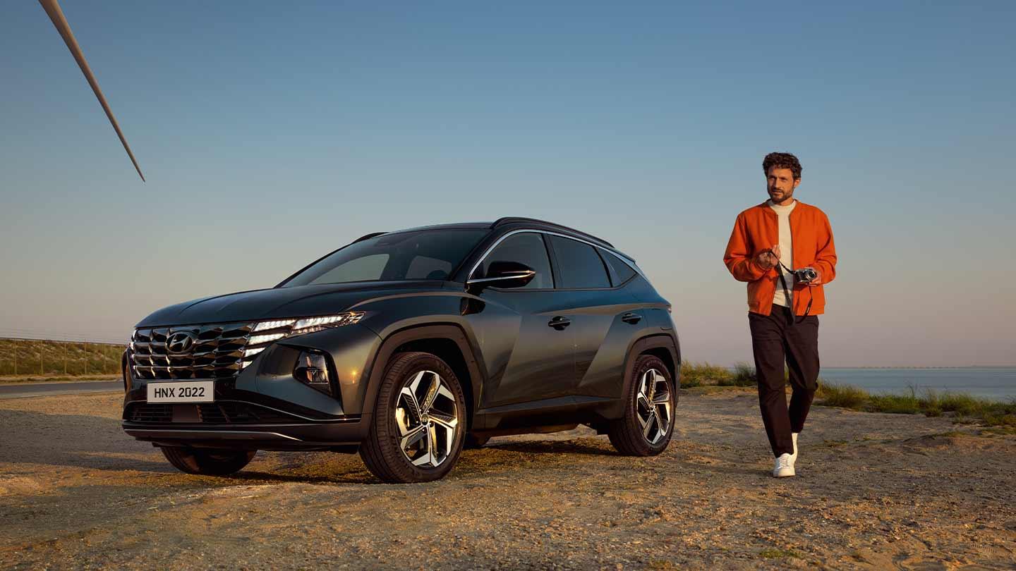
[[[389,484],[440,480],[462,451],[465,414],[462,387],[444,361],[429,353],[394,355],[360,456]]]

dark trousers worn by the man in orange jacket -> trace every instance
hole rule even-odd
[[[759,383],[759,408],[774,456],[793,453],[791,432],[805,428],[819,378],[819,318],[810,315],[801,323],[789,308],[772,306],[770,315],[748,314],[752,352]],[[786,406],[783,362],[789,370],[793,395]]]

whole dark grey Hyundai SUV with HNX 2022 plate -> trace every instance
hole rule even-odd
[[[202,474],[330,450],[425,482],[463,446],[579,424],[658,454],[681,363],[670,310],[632,258],[556,224],[370,234],[274,288],[141,320],[123,428]]]

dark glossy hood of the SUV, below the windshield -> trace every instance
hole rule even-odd
[[[194,325],[258,321],[288,317],[311,317],[341,313],[374,298],[421,290],[441,290],[444,281],[370,281],[324,283],[297,288],[253,290],[225,296],[202,298],[163,308],[138,322],[135,327]]]

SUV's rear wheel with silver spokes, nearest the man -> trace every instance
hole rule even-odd
[[[653,401],[651,407],[644,405],[647,396]],[[677,393],[674,379],[658,357],[640,355],[635,360],[625,399],[625,416],[608,427],[611,444],[626,456],[655,456],[665,450],[674,434]]]

